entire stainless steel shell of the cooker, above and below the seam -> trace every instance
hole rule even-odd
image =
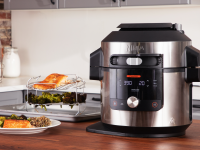
[[[163,68],[185,67],[185,47],[191,41],[102,42],[103,66],[109,67],[114,54],[162,54]],[[101,121],[129,127],[171,127],[191,124],[190,83],[184,72],[163,72],[163,107],[158,111],[114,110],[110,107],[110,81],[115,69],[104,69],[101,80]]]

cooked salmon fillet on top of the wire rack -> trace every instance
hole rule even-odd
[[[34,84],[33,87],[35,89],[41,89],[41,90],[54,89],[56,87],[59,87],[60,85],[70,83],[70,80],[67,80],[67,77],[68,76],[63,74],[53,73],[47,76],[43,81],[39,83],[55,83],[55,84]]]

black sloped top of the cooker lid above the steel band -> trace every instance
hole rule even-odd
[[[102,42],[173,42],[191,41],[172,23],[120,24],[119,31],[111,32]]]

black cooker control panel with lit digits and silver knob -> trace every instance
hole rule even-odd
[[[158,111],[163,106],[162,69],[113,69],[110,107],[127,111]]]

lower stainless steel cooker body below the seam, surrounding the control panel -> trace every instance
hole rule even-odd
[[[190,124],[189,84],[184,73],[164,73],[164,106],[159,111],[112,110],[109,105],[109,75],[104,74],[102,91],[102,122],[121,126],[166,127]],[[107,85],[107,86],[106,86]],[[174,118],[175,124],[171,123]]]

